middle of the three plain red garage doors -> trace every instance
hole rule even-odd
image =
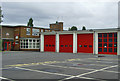
[[[73,53],[73,35],[66,34],[59,36],[59,52]]]

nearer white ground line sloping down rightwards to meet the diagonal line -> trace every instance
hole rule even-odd
[[[47,74],[54,74],[54,75],[61,75],[61,76],[73,76],[73,75],[67,75],[67,74],[61,74],[61,73],[51,73],[51,72],[46,72],[46,71],[39,71],[39,70],[33,70],[33,69],[27,69],[27,68],[21,68],[21,67],[15,67],[17,69],[21,70],[28,70],[28,71],[33,71],[33,72],[40,72],[40,73],[47,73]],[[75,76],[74,76],[75,77]]]

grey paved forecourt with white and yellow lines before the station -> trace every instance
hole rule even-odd
[[[116,55],[40,53],[8,51],[2,53],[3,80],[14,81],[119,81]]]

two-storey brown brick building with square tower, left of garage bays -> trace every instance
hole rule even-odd
[[[39,32],[62,31],[63,22],[50,24],[49,28],[2,25],[3,51],[39,51]]]

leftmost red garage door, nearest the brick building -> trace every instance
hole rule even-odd
[[[55,52],[55,35],[44,36],[44,51]]]

